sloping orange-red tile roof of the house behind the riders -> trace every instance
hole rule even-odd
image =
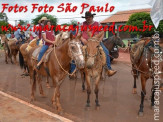
[[[128,10],[128,11],[120,11],[116,14],[112,15],[111,17],[108,17],[107,19],[101,21],[100,23],[109,23],[109,22],[127,22],[129,17],[133,13],[139,13],[139,12],[147,12],[150,13],[151,9],[137,9],[137,10]]]

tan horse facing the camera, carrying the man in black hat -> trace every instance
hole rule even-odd
[[[84,78],[87,83],[87,104],[86,107],[90,107],[90,94],[91,94],[91,86],[90,82],[92,79],[95,80],[95,94],[96,94],[96,107],[100,106],[98,100],[98,92],[99,92],[99,81],[101,78],[101,72],[103,69],[103,65],[106,62],[105,54],[103,52],[102,47],[100,47],[100,37],[103,35],[103,32],[99,33],[98,35],[91,37],[91,34],[88,33],[89,39],[86,46],[83,47],[83,52],[85,55],[85,67],[83,72],[81,72],[82,79]]]

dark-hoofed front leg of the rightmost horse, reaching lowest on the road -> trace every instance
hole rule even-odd
[[[142,91],[141,91],[141,104],[140,104],[140,109],[139,109],[139,113],[138,113],[139,116],[143,116],[144,98],[146,95],[146,90],[145,90],[146,80],[147,80],[147,78],[144,76],[144,74],[141,74]]]

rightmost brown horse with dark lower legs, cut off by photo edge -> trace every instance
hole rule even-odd
[[[140,58],[137,61],[137,63],[133,63],[132,60],[132,53],[133,52],[133,47],[131,48],[131,52],[130,52],[130,57],[131,57],[131,63],[132,63],[132,72],[133,72],[133,77],[134,77],[134,86],[133,86],[133,93],[136,93],[136,78],[138,78],[138,76],[140,75],[141,77],[141,86],[142,86],[142,91],[141,91],[141,104],[140,104],[140,108],[139,108],[139,112],[138,115],[139,116],[143,116],[144,114],[144,97],[146,95],[146,82],[149,78],[153,79],[153,87],[152,87],[152,97],[151,97],[151,107],[154,107],[154,94],[155,94],[155,89],[158,87],[157,85],[154,85],[155,80],[156,80],[156,73],[158,72],[158,70],[160,70],[161,72],[158,73],[158,76],[161,78],[163,78],[163,55],[160,53],[159,56],[157,56],[160,59],[160,64],[159,64],[159,69],[156,69],[155,67],[155,62],[154,60],[156,60],[157,58],[155,57],[155,46],[154,48],[149,48],[146,47],[145,45],[150,41],[149,38],[144,38],[143,39],[145,41],[144,43],[144,47],[143,47],[143,51],[140,54]],[[142,41],[142,40],[140,40]],[[140,43],[140,42],[137,42]],[[136,43],[136,44],[137,44]],[[156,43],[157,45],[159,45],[158,43]],[[162,47],[163,48],[163,47]],[[159,48],[159,50],[161,50],[162,52],[162,48]],[[157,59],[158,60],[158,59]]]

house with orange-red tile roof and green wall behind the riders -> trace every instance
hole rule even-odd
[[[147,12],[150,13],[151,9],[137,9],[137,10],[128,10],[128,11],[120,11],[112,15],[111,17],[106,18],[105,20],[101,21],[100,23],[105,26],[105,25],[112,25],[113,22],[115,22],[115,29],[118,29],[120,25],[126,25],[126,22],[129,20],[130,16],[134,13],[139,13],[139,12]],[[105,32],[105,38],[108,38],[112,36],[112,32]],[[122,39],[124,38],[131,38],[135,35],[130,35],[127,32],[118,32],[117,35],[120,36]]]

